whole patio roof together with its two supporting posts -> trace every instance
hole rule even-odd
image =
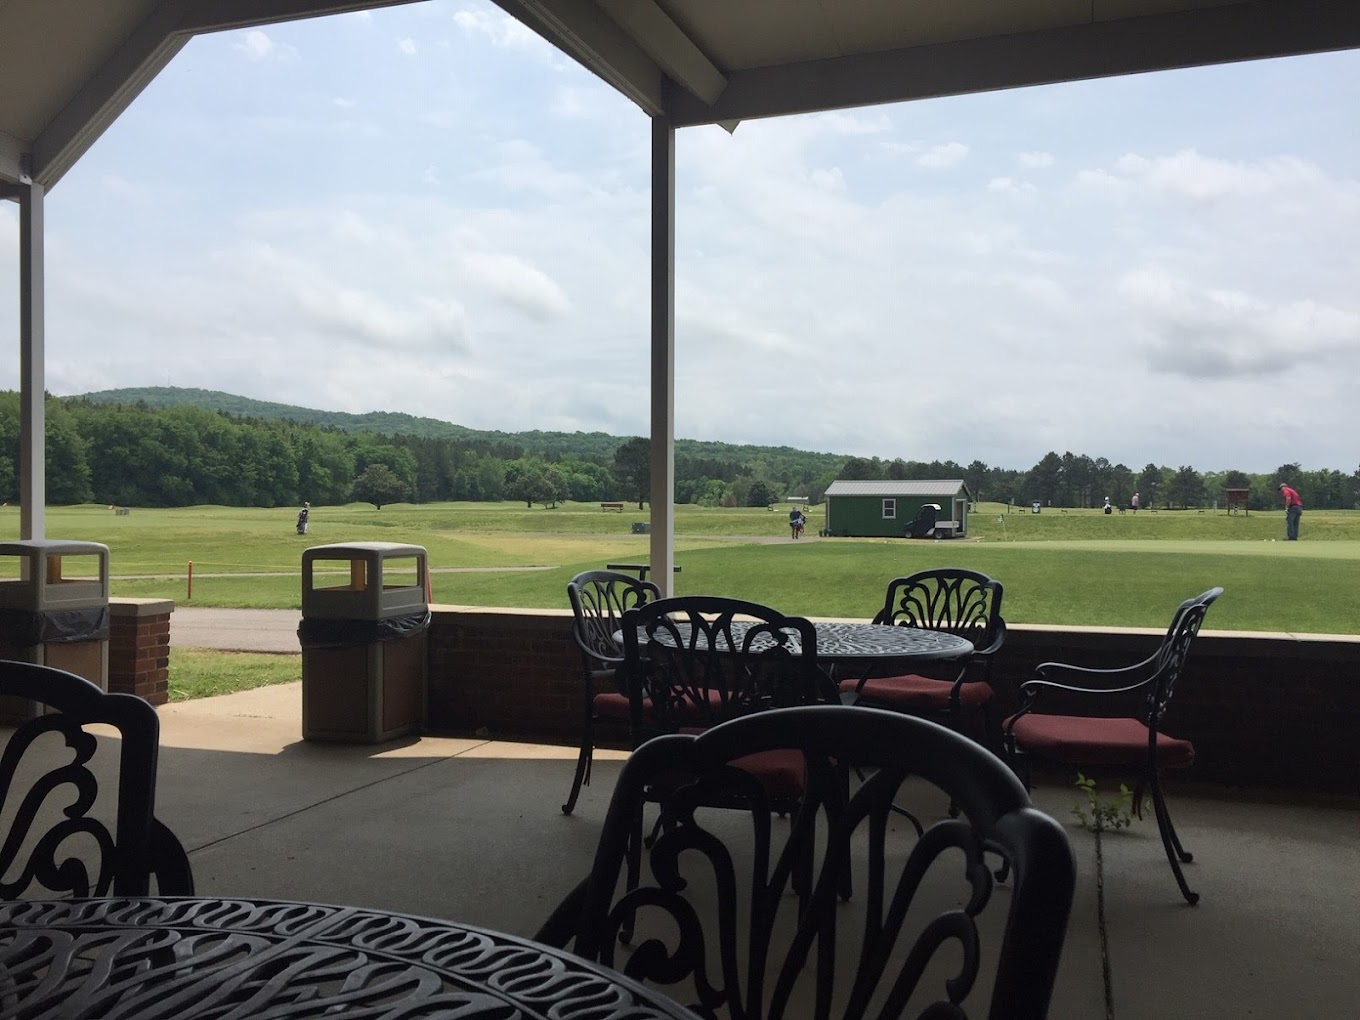
[[[0,0],[0,199],[20,204],[20,533],[44,537],[42,203],[196,34],[412,0]],[[1353,0],[495,0],[636,103],[651,151],[651,562],[669,583],[675,132],[1360,48]]]

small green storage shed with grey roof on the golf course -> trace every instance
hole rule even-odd
[[[968,533],[971,502],[963,479],[832,481],[827,488],[826,529],[835,536],[902,539],[917,511],[925,503],[937,503],[940,518],[933,537],[962,539]]]

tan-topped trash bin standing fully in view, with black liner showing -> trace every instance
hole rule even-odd
[[[377,743],[426,717],[428,562],[366,541],[302,554],[302,737]]]

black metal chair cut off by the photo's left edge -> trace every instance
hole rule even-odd
[[[155,815],[156,710],[12,661],[0,661],[0,699],[19,718],[0,755],[0,899],[192,895],[184,846]]]

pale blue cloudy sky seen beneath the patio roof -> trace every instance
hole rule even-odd
[[[1357,95],[1350,52],[685,129],[677,435],[1355,471]],[[643,434],[647,154],[475,0],[197,38],[49,194],[48,388]],[[16,243],[0,203],[0,322]]]

